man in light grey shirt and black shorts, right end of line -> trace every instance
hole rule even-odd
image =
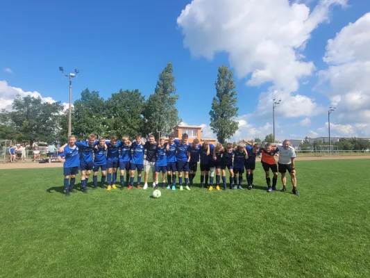
[[[281,181],[283,182],[283,189],[281,191],[287,191],[287,178],[285,174],[288,171],[293,186],[292,192],[294,195],[298,195],[298,190],[296,189],[296,170],[294,169],[296,152],[294,152],[294,148],[290,146],[289,140],[284,140],[283,145],[276,145],[276,150],[279,152],[278,172],[281,174]]]

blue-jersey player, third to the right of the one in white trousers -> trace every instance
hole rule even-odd
[[[187,157],[187,149],[190,147],[190,143],[187,142],[187,133],[183,134],[181,140],[174,140],[176,144],[176,168],[178,171],[178,184],[180,185],[180,190],[183,190],[183,172],[185,172],[185,189],[190,190],[189,187],[189,161]]]

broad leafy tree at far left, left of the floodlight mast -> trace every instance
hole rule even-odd
[[[43,103],[40,97],[17,95],[12,103],[12,111],[3,113],[19,132],[17,140],[28,141],[32,146],[35,140],[55,140],[62,108],[60,101]]]

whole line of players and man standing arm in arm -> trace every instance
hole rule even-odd
[[[93,171],[94,189],[98,188],[99,170],[101,170],[101,188],[116,189],[118,167],[121,189],[126,186],[128,190],[131,190],[134,187],[135,172],[137,172],[135,186],[141,188],[143,171],[143,189],[148,188],[149,171],[152,170],[153,188],[159,187],[159,175],[162,173],[162,188],[176,190],[176,179],[178,178],[180,190],[183,190],[183,177],[185,176],[185,189],[191,190],[198,163],[201,168],[201,188],[220,190],[222,186],[226,190],[226,169],[228,169],[229,188],[243,189],[245,169],[247,188],[252,189],[255,158],[258,154],[262,154],[261,161],[266,174],[267,192],[278,190],[276,188],[278,172],[281,174],[283,183],[281,191],[285,192],[287,190],[286,172],[289,172],[293,186],[292,192],[298,195],[294,169],[296,155],[289,140],[285,140],[283,145],[267,143],[264,147],[247,140],[239,141],[236,147],[233,147],[231,143],[228,143],[226,147],[219,143],[212,145],[208,141],[199,144],[197,138],[192,143],[187,141],[186,133],[183,134],[181,140],[169,136],[168,142],[161,138],[159,143],[155,142],[154,136],[149,136],[146,142],[142,141],[140,135],[135,136],[133,142],[128,140],[128,136],[123,136],[121,140],[117,140],[117,136],[112,136],[110,140],[106,138],[96,140],[96,136],[91,134],[83,142],[76,142],[74,136],[69,136],[68,143],[60,147],[58,154],[59,161],[63,163],[65,196],[76,192],[74,184],[79,169],[81,170],[83,193],[87,193],[87,181],[91,170]],[[146,150],[145,159],[144,150]],[[274,158],[277,153],[279,153],[278,165]],[[272,184],[269,176],[270,170],[273,172]],[[178,172],[177,177],[176,172]],[[220,177],[222,183],[220,183]]]

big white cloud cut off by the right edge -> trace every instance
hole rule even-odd
[[[356,124],[370,121],[369,45],[370,13],[367,13],[328,40],[323,60],[329,67],[319,72],[321,90],[337,106],[337,122],[355,126],[364,136],[370,135],[370,129],[361,129]]]

